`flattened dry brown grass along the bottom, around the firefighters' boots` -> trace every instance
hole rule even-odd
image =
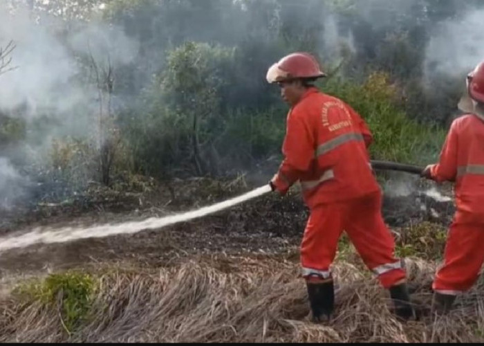
[[[436,264],[408,260],[413,299],[430,306]],[[457,301],[451,315],[428,314],[402,324],[387,291],[348,262],[335,266],[336,315],[329,325],[309,313],[297,263],[268,257],[217,255],[170,268],[109,268],[93,273],[96,287],[86,320],[66,330],[62,297],[44,303],[9,295],[1,304],[1,342],[480,342],[484,284]]]

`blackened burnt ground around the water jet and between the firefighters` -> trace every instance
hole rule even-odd
[[[23,214],[3,215],[0,233],[28,231],[35,226],[87,226],[161,217],[207,206],[248,190],[243,179],[225,182],[194,179],[136,193],[102,191],[95,197],[81,196],[68,203],[37,205]],[[452,201],[438,202],[422,192],[402,197],[385,194],[382,212],[387,224],[400,234],[400,239],[401,229],[411,224],[427,221],[447,226],[453,206]],[[213,253],[284,254],[297,261],[307,217],[308,210],[297,192],[286,197],[269,194],[216,215],[160,230],[5,251],[0,253],[0,273],[5,277],[98,262],[129,261],[169,266],[185,257]]]

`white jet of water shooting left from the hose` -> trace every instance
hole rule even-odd
[[[220,203],[215,203],[212,206],[184,212],[182,214],[170,215],[167,217],[151,217],[144,221],[129,221],[117,225],[105,224],[100,226],[92,226],[89,228],[64,227],[58,228],[57,230],[46,230],[44,232],[41,230],[41,228],[36,228],[35,230],[32,230],[32,232],[26,233],[24,235],[0,238],[0,251],[7,251],[12,248],[24,248],[26,246],[32,246],[35,244],[63,243],[76,239],[100,238],[108,237],[110,235],[133,234],[141,232],[142,230],[162,228],[165,226],[189,221],[198,217],[203,217],[205,215],[209,215],[214,212],[230,208],[232,206],[235,206],[236,204],[248,201],[249,199],[254,199],[270,191],[270,186],[264,185],[260,188],[242,194],[239,197],[234,197],[233,199],[229,199]]]

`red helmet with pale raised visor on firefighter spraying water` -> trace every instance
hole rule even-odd
[[[309,53],[292,53],[270,66],[266,79],[269,83],[282,82],[295,78],[320,78],[326,74],[319,69],[319,64]]]

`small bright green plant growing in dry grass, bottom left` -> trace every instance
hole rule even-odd
[[[21,298],[57,307],[68,334],[89,318],[94,292],[93,277],[76,271],[50,274],[44,280],[22,284],[16,289]]]

